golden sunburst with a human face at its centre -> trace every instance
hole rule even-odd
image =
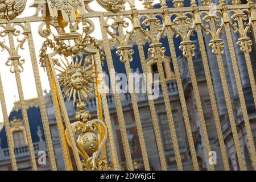
[[[68,101],[70,101],[73,96],[74,106],[77,98],[80,103],[82,100],[88,103],[88,97],[91,98],[92,94],[96,96],[95,71],[92,56],[86,56],[85,59],[84,56],[72,56],[72,61],[64,57],[65,61],[60,59],[61,63],[57,59],[53,60],[55,61],[55,65],[61,68],[55,69],[60,72],[57,76],[60,77],[59,81],[63,97],[68,98]]]

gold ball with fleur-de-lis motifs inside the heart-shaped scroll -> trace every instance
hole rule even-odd
[[[98,150],[99,142],[98,137],[96,134],[92,132],[86,132],[79,136],[77,139],[77,142],[79,143],[79,146],[82,147],[82,149],[87,154],[93,154]]]

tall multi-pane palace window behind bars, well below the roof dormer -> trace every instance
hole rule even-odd
[[[167,114],[160,113],[158,116],[159,116],[159,122],[160,122],[160,127],[161,127],[161,134],[162,134],[162,140],[163,140],[163,144],[164,144],[164,150],[166,150],[166,151],[172,150],[174,148],[174,146],[172,145],[171,133],[170,133],[170,127],[169,127],[169,123],[168,123]],[[180,147],[180,146],[183,146],[183,142],[182,142],[181,130],[180,130],[180,126],[179,126],[179,118],[177,117],[176,113],[173,113],[173,118],[174,118],[177,142]]]

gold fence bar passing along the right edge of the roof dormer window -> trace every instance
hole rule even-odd
[[[192,131],[191,131],[191,126],[190,126],[189,117],[188,117],[188,110],[187,110],[187,105],[186,105],[186,101],[185,101],[183,85],[182,85],[182,81],[181,81],[181,77],[180,77],[179,64],[177,62],[177,56],[176,56],[175,47],[174,47],[174,40],[172,38],[173,36],[171,34],[171,28],[169,26],[167,27],[166,34],[167,34],[168,43],[170,46],[172,63],[174,64],[174,72],[175,72],[176,80],[177,80],[177,88],[179,90],[181,109],[183,110],[183,118],[184,118],[185,128],[187,131],[187,138],[188,138],[189,148],[191,151],[193,168],[195,171],[199,171],[199,166],[198,166],[197,157],[196,157],[195,144],[193,142]]]

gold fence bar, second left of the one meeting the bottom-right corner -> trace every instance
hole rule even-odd
[[[224,138],[223,138],[223,134],[222,134],[222,130],[221,130],[220,117],[218,115],[218,107],[217,107],[217,103],[216,103],[216,98],[214,96],[213,83],[212,83],[212,78],[210,76],[208,58],[207,58],[207,53],[206,53],[205,47],[204,47],[205,44],[204,44],[204,39],[203,39],[203,34],[202,34],[200,24],[196,25],[196,32],[197,32],[197,36],[199,39],[201,55],[202,55],[202,60],[203,60],[203,64],[204,64],[205,77],[207,79],[207,85],[208,85],[208,90],[209,90],[210,103],[212,105],[213,117],[215,120],[215,125],[216,125],[216,130],[217,130],[217,135],[218,135],[218,142],[220,143],[222,160],[224,163],[225,170],[229,171],[228,156],[226,154],[226,147],[225,147]]]

